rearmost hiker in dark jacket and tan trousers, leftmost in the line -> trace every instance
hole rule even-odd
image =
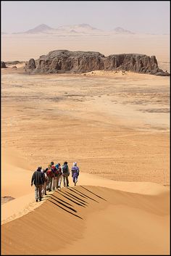
[[[31,186],[33,186],[33,183],[35,185],[36,202],[38,202],[38,197],[41,201],[41,190],[44,183],[44,176],[41,172],[41,167],[38,167],[38,169],[33,173],[33,176],[31,178]]]

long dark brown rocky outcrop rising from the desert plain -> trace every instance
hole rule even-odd
[[[160,70],[155,56],[112,54],[105,57],[96,51],[50,51],[25,64],[27,73],[86,73],[93,70],[130,70],[151,75],[170,75]]]

